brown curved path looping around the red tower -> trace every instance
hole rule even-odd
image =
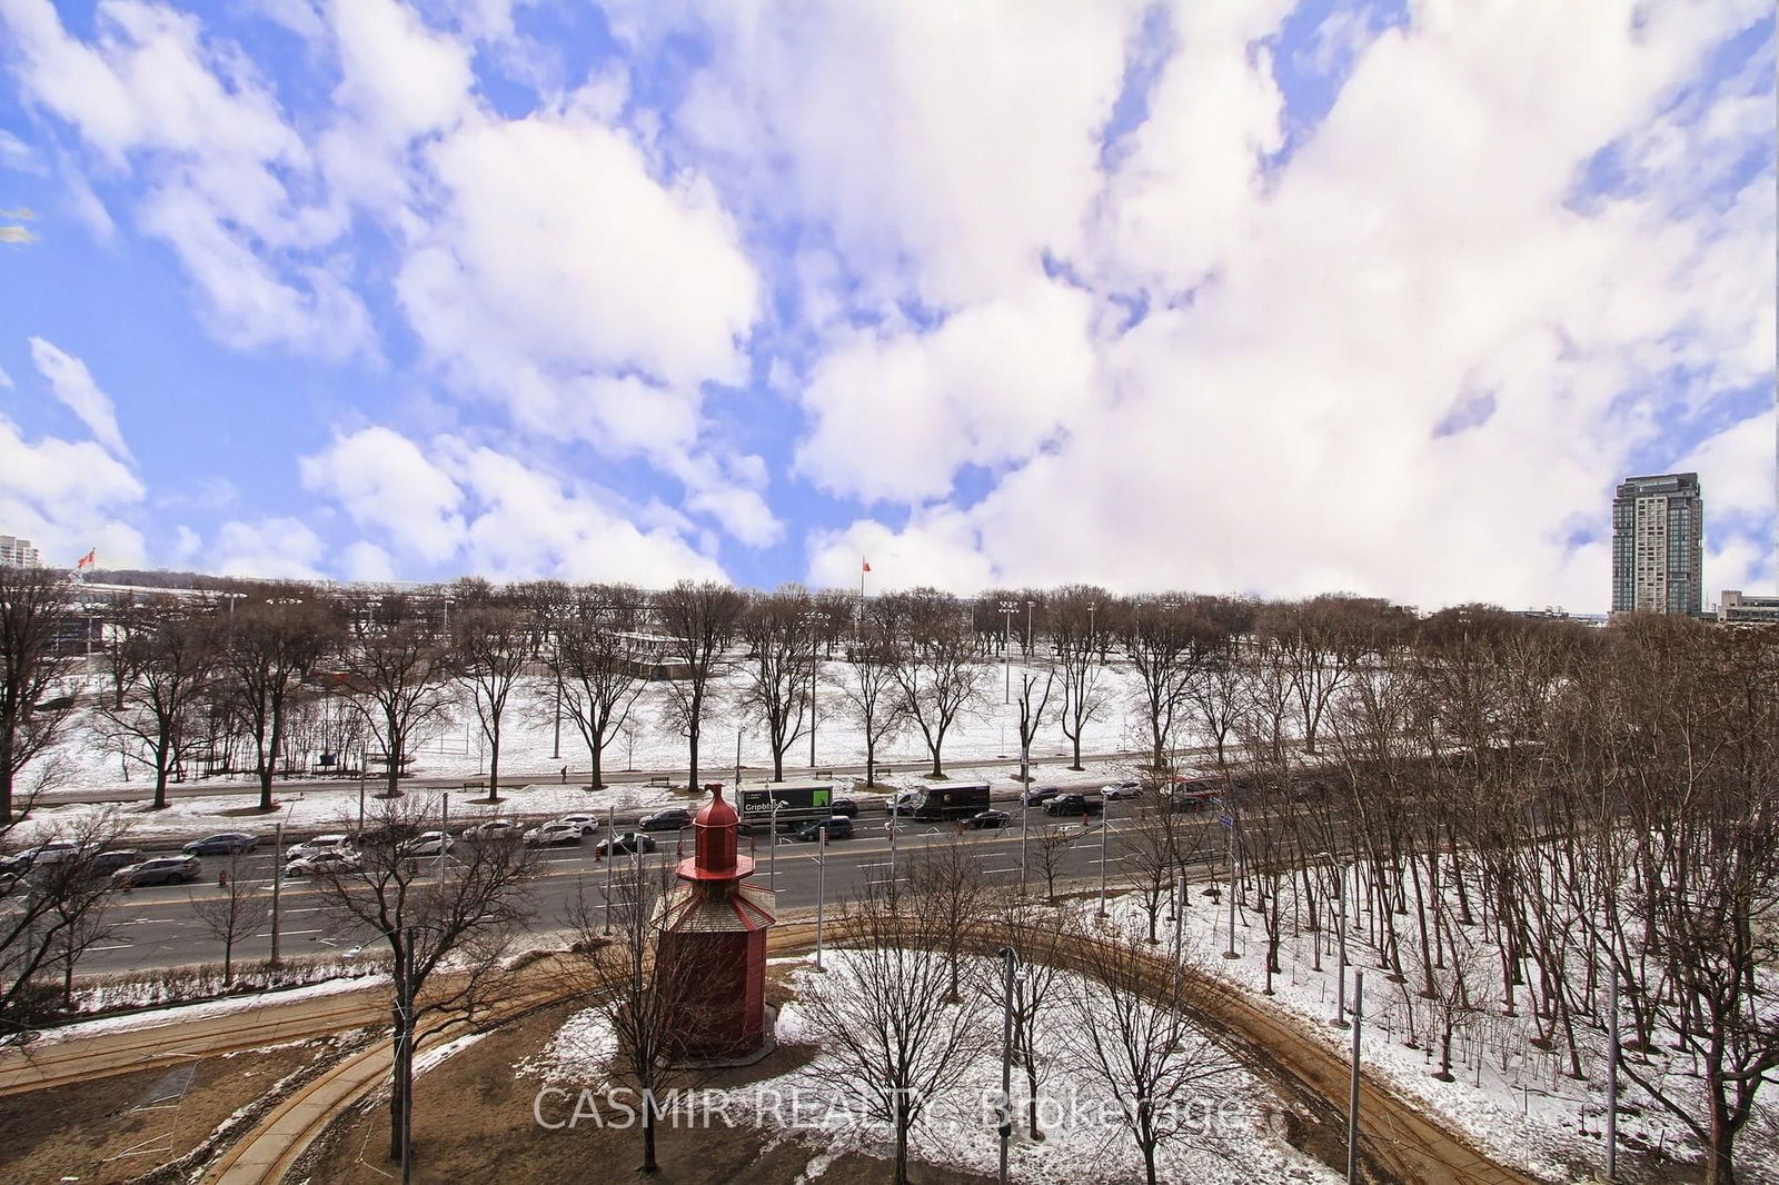
[[[838,923],[829,925],[829,938],[843,941]],[[1002,941],[996,934],[980,934],[984,948],[994,948]],[[1067,970],[1091,975],[1096,941],[1105,939],[1085,939],[1075,947],[1064,961]],[[811,922],[783,922],[769,936],[772,955],[801,954],[813,947]],[[1172,964],[1153,955],[1151,963],[1153,982],[1163,988],[1174,973]],[[1306,1021],[1276,1012],[1203,971],[1187,968],[1187,973],[1203,988],[1197,1007],[1204,1020],[1224,1028],[1254,1055],[1251,1068],[1263,1073],[1270,1069],[1315,1096],[1325,1108],[1345,1116],[1348,1069],[1340,1050],[1306,1032]],[[566,995],[560,979],[548,970],[528,979],[535,986],[518,993],[486,1020],[511,1020]],[[372,984],[361,991],[288,1004],[263,1002],[260,1007],[196,1021],[169,1014],[164,1023],[146,1023],[117,1034],[73,1037],[23,1052],[4,1050],[0,1094],[381,1025],[388,1021],[388,996]],[[439,1039],[447,1037],[434,1037]],[[379,1043],[311,1078],[221,1153],[203,1180],[215,1185],[276,1185],[342,1108],[388,1078],[388,1046]],[[1535,1185],[1533,1178],[1480,1153],[1464,1135],[1370,1078],[1361,1082],[1361,1119],[1366,1162],[1400,1181]]]

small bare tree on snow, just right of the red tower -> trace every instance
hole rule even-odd
[[[907,1141],[927,1107],[989,1048],[982,1025],[950,1004],[952,971],[927,947],[925,923],[866,891],[847,922],[854,947],[802,996],[827,1059],[813,1073],[890,1126],[897,1185],[907,1185]]]

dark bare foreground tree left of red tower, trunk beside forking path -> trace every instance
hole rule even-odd
[[[439,818],[429,799],[384,799],[358,838],[358,867],[315,877],[322,906],[343,923],[386,943],[395,966],[390,1091],[390,1158],[402,1155],[411,1112],[406,1066],[416,1043],[452,1023],[486,1014],[509,989],[507,947],[530,916],[535,863],[516,840],[459,843],[443,874],[411,852]]]

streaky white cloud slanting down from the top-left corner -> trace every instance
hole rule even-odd
[[[28,101],[75,125],[100,167],[137,173],[146,231],[180,256],[213,333],[242,349],[326,356],[370,349],[363,302],[324,258],[345,212],[306,205],[301,135],[246,55],[208,43],[197,18],[107,0],[93,43],[48,0],[0,0]],[[94,210],[76,210],[91,221]]]

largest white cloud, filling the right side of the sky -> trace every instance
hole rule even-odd
[[[1265,174],[1277,96],[1247,39],[1276,12],[1188,9],[1080,269],[1101,290],[1142,283],[1147,317],[1124,335],[1103,327],[1105,306],[1076,318],[1098,397],[1064,407],[1044,448],[1021,441],[1030,423],[984,432],[977,448],[1003,445],[1014,468],[957,518],[916,511],[918,539],[943,525],[929,562],[1014,584],[1091,573],[1601,609],[1617,477],[1717,391],[1770,383],[1772,173],[1720,208],[1676,199],[1699,189],[1685,158],[1585,210],[1573,187],[1743,14],[1430,4],[1363,50],[1322,126]],[[898,345],[847,374],[834,407],[898,384],[909,420],[930,418],[929,384],[906,375],[930,372],[945,338]],[[843,340],[813,372],[817,432],[824,368],[854,351]],[[1445,431],[1461,406],[1469,425]],[[968,411],[941,407],[945,439],[968,438]],[[870,441],[865,466],[888,454],[911,475],[836,461],[827,480],[914,505],[980,455],[939,443],[925,468],[932,439],[881,413],[836,436]],[[843,562],[833,543],[811,543],[811,578]]]

